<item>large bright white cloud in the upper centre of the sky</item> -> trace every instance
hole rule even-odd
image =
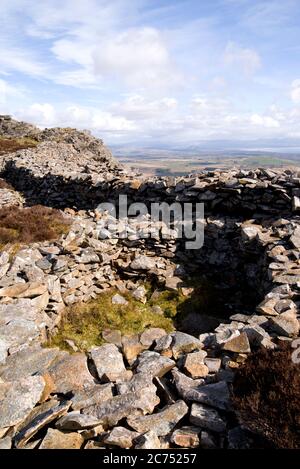
[[[105,78],[129,88],[165,88],[179,84],[181,76],[172,63],[166,44],[155,28],[142,27],[118,33],[62,39],[52,52],[65,63],[80,65],[63,72],[56,81],[64,84],[97,83]],[[74,77],[74,78],[73,78]]]

